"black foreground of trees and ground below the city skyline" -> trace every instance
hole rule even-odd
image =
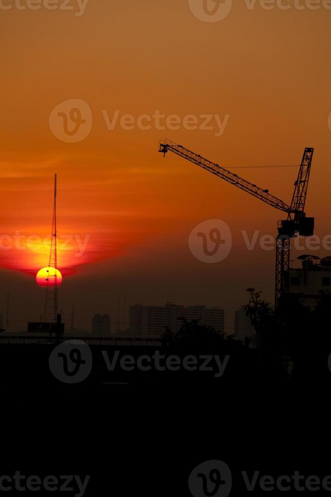
[[[240,495],[242,470],[329,474],[330,296],[288,296],[275,315],[252,289],[246,310],[251,341],[184,321],[158,346],[92,345],[75,384],[50,369],[55,343],[1,345],[3,474],[92,475],[86,495],[116,496],[190,495],[210,459]]]

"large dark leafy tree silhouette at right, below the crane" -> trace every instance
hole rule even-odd
[[[264,367],[280,374],[293,361],[292,378],[314,381],[328,374],[327,358],[331,352],[331,294],[319,292],[311,308],[300,294],[284,295],[277,313],[261,299],[254,288],[246,313],[261,338],[260,353]]]

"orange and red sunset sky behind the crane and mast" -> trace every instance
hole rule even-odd
[[[283,3],[291,8],[235,1],[219,22],[198,19],[188,0],[90,0],[82,15],[74,0],[73,10],[19,10],[14,2],[1,10],[0,236],[22,236],[20,248],[4,250],[2,238],[0,249],[0,313],[10,293],[18,321],[11,331],[43,309],[35,274],[48,265],[48,245],[26,239],[51,233],[54,173],[59,302],[66,319],[75,303],[77,328],[90,328],[94,312],[116,321],[124,293],[128,306],[225,307],[228,329],[246,288],[273,299],[275,253],[259,242],[247,250],[241,232],[274,236],[282,213],[173,154],[163,159],[164,137],[240,167],[233,171],[286,203],[304,148],[314,147],[306,211],[316,235],[331,233],[331,10]],[[92,111],[92,129],[77,143],[55,136],[50,119],[71,99]],[[107,129],[105,116],[111,121],[116,111]],[[179,129],[156,129],[155,111],[178,115]],[[121,127],[124,115],[134,116],[133,129]],[[142,115],[151,116],[151,129],[139,129]],[[224,132],[217,136],[214,118],[213,129],[185,129],[187,115],[198,125],[199,116],[216,115]],[[298,167],[249,167],[271,165]],[[226,222],[233,237],[230,255],[216,264],[197,260],[188,246],[194,227],[211,219]],[[305,252],[331,255],[331,245]]]

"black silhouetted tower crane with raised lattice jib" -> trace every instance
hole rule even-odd
[[[158,151],[166,157],[168,152],[183,157],[193,164],[196,164],[206,171],[209,171],[241,190],[253,195],[272,207],[285,212],[286,219],[278,221],[276,238],[276,281],[275,281],[275,308],[278,308],[281,297],[288,292],[288,271],[289,253],[291,248],[291,238],[299,233],[300,236],[312,236],[314,234],[314,218],[306,217],[305,203],[310,176],[310,168],[314,149],[306,148],[301,161],[298,178],[294,184],[294,193],[291,205],[287,205],[283,200],[274,197],[269,190],[264,190],[242,177],[228,171],[219,164],[212,162],[201,155],[178,145],[171,140],[159,141]]]

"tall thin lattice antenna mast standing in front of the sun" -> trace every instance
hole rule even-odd
[[[44,321],[47,322],[56,322],[58,314],[56,194],[57,194],[57,175],[55,174],[51,250],[50,250],[50,260],[48,264],[50,272],[49,272],[49,277],[47,278],[47,289],[46,289],[45,311],[44,311]],[[52,274],[50,274],[51,272]],[[51,283],[50,278],[54,279],[54,286],[50,284]]]

